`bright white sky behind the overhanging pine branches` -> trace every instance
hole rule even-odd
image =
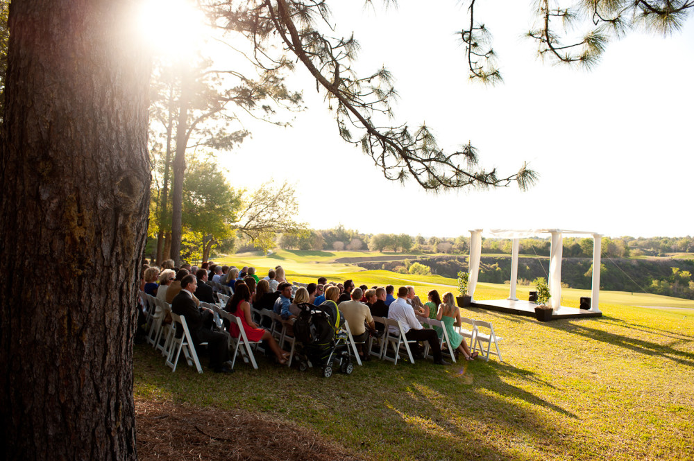
[[[609,236],[692,234],[694,20],[663,39],[636,33],[609,46],[590,73],[543,64],[533,42],[530,6],[512,0],[477,6],[493,33],[505,83],[468,82],[465,22],[455,2],[401,0],[374,13],[362,2],[331,2],[337,33],[362,45],[359,67],[384,64],[396,78],[396,123],[426,122],[439,145],[468,139],[486,168],[511,175],[523,162],[540,174],[516,186],[432,195],[385,180],[361,150],[344,143],[299,68],[289,82],[308,109],[291,128],[249,121],[241,148],[219,156],[234,186],[273,178],[298,191],[301,216],[315,229],[339,223],[361,232],[469,235],[476,228],[564,228]],[[351,6],[353,5],[353,6]],[[430,6],[434,5],[434,6]],[[486,9],[484,9],[484,8]],[[504,11],[500,15],[500,11]],[[502,16],[502,17],[501,17]]]

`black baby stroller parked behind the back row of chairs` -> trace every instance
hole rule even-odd
[[[332,368],[351,374],[354,370],[349,353],[344,319],[334,301],[325,301],[320,306],[299,304],[301,313],[294,322],[294,338],[303,345],[303,357],[299,369],[304,371],[311,365],[320,365],[325,378],[332,376]]]

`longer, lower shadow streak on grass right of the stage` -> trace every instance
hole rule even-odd
[[[571,320],[555,320],[554,322],[547,322],[547,326],[550,328],[559,329],[561,331],[566,331],[567,333],[583,336],[584,338],[607,342],[613,346],[629,349],[640,354],[645,354],[648,356],[661,356],[668,358],[673,362],[679,363],[680,365],[694,367],[694,354],[691,352],[679,351],[667,345],[660,345],[656,342],[629,338],[629,336],[618,335],[616,333],[609,333],[608,331],[586,327],[585,324],[574,324],[571,322]]]

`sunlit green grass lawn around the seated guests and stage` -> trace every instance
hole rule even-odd
[[[452,290],[455,282],[355,272],[353,266],[330,272],[330,259],[283,261],[296,281],[313,281],[316,273],[369,286],[407,279],[421,294]],[[311,264],[318,272],[305,270]],[[519,288],[519,297],[527,289]],[[565,292],[564,305],[586,293]],[[507,295],[507,286],[493,284],[480,284],[475,293],[478,299]],[[694,459],[694,311],[629,306],[632,299],[639,306],[694,308],[694,302],[600,296],[604,316],[581,320],[541,323],[463,309],[466,317],[493,322],[504,338],[504,363],[492,358],[437,367],[371,361],[351,376],[323,379],[314,369],[298,372],[261,358],[260,369],[242,363],[230,376],[198,375],[185,363],[171,374],[151,347],[138,346],[135,394],[269,413],[369,460]]]

